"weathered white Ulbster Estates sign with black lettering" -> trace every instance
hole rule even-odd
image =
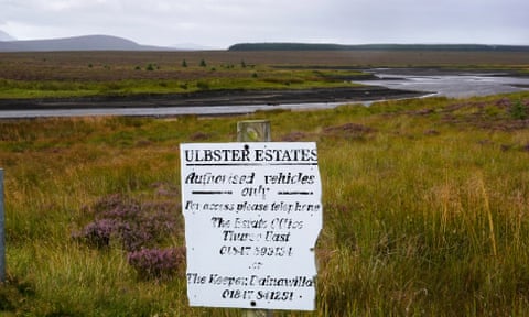
[[[190,305],[314,310],[316,144],[180,149]]]

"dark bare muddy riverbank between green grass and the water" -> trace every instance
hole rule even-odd
[[[171,95],[0,99],[0,110],[156,108],[193,106],[207,107],[248,105],[279,106],[289,103],[360,102],[381,99],[412,98],[423,95],[423,92],[389,89],[379,86],[284,90],[204,90],[190,94]]]

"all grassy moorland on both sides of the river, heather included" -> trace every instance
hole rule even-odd
[[[0,54],[0,98],[348,87],[343,76],[377,66],[527,74],[529,56]],[[241,316],[239,309],[187,305],[179,144],[234,141],[236,123],[248,119],[270,120],[273,141],[315,141],[319,151],[324,226],[315,248],[317,310],[274,316],[527,316],[527,91],[218,118],[0,121],[1,314]]]

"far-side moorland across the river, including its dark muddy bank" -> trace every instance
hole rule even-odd
[[[527,75],[525,52],[199,51],[0,53],[0,108],[252,105],[375,100],[413,91],[360,86],[370,67]]]

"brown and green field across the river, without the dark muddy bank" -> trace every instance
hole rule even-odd
[[[0,53],[0,99],[352,87],[365,67],[529,73],[523,52]],[[279,67],[274,67],[279,66]]]

